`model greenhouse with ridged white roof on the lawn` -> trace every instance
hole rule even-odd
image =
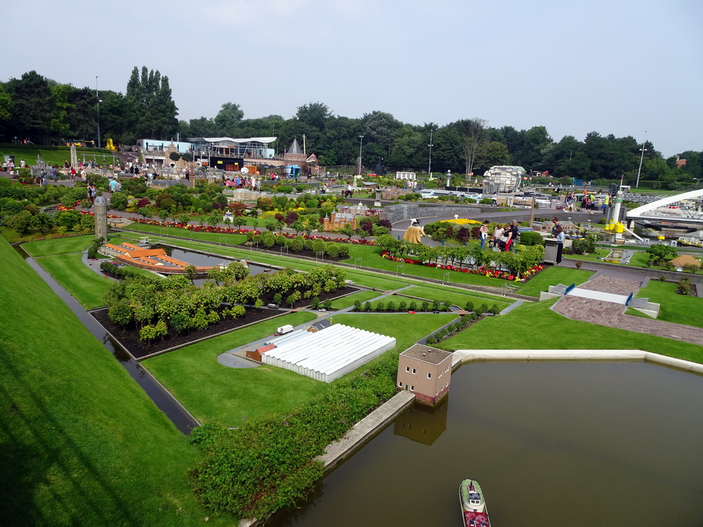
[[[332,382],[396,345],[393,337],[335,324],[318,332],[295,332],[273,341],[262,363]]]

